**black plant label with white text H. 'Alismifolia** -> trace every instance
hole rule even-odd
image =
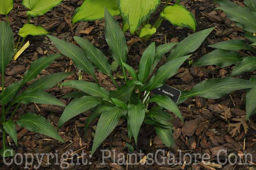
[[[164,84],[162,87],[158,87],[152,90],[153,94],[159,94],[159,95],[166,95],[168,96],[170,99],[172,99],[172,101],[174,101],[174,103],[177,103],[180,95],[181,95],[181,91],[173,88],[171,86],[168,86],[166,84]]]

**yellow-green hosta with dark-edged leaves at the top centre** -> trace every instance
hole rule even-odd
[[[196,30],[196,20],[191,12],[179,4],[166,4],[156,22],[149,23],[150,15],[157,10],[161,0],[84,0],[82,6],[75,10],[72,22],[90,21],[104,18],[106,7],[113,16],[123,18],[123,31],[130,30],[131,34],[138,34],[142,39],[149,39],[161,26],[164,19],[176,26],[188,27]]]

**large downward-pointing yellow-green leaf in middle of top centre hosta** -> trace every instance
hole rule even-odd
[[[150,17],[160,0],[117,0],[121,15],[125,22],[129,23],[132,34],[140,27],[142,22]]]

